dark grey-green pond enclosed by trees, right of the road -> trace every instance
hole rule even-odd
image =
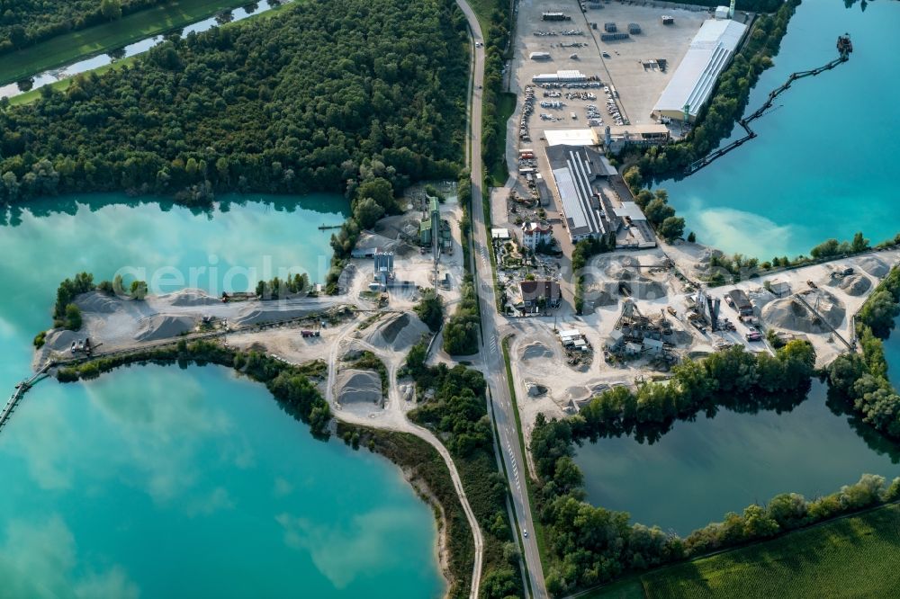
[[[687,535],[779,493],[813,498],[863,473],[900,476],[900,447],[835,414],[826,396],[827,387],[814,380],[808,397],[781,414],[723,409],[676,422],[652,444],[632,437],[586,443],[576,463],[588,501]]]

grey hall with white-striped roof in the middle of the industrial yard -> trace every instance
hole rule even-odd
[[[601,209],[594,189],[599,177],[616,174],[606,156],[587,146],[551,146],[547,159],[572,243],[614,233],[616,228],[609,221],[612,215]]]

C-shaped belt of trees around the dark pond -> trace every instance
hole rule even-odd
[[[798,511],[789,525],[786,520],[779,522],[776,512],[768,514],[767,508],[752,505],[743,515],[728,514],[725,524],[710,524],[682,540],[655,526],[632,524],[624,512],[584,501],[583,475],[574,461],[575,443],[622,434],[653,443],[676,419],[689,419],[700,411],[713,414],[721,407],[742,412],[791,409],[806,397],[814,365],[815,352],[805,342],[789,342],[775,356],[734,347],[703,361],[680,363],[666,383],[646,383],[636,390],[609,389],[576,416],[559,420],[538,416],[530,450],[539,476],[538,516],[545,527],[551,559],[546,572],[548,590],[554,595],[571,593],[631,570],[770,536],[830,517],[835,510],[866,504],[868,500],[861,499],[829,500],[815,507],[815,502],[805,503],[806,511]],[[870,483],[869,479],[860,482],[867,488],[873,487]],[[888,494],[883,483],[881,479],[881,487],[875,485],[878,501]],[[857,496],[856,487],[844,491],[847,496]],[[890,487],[890,493],[900,496],[900,481]],[[871,493],[866,496],[874,497]],[[773,500],[773,504],[780,501]]]

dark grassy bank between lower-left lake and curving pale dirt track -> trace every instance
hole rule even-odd
[[[412,486],[426,501],[431,503],[430,496],[437,499],[440,506],[434,506],[435,518],[446,527],[446,549],[449,553],[446,576],[450,586],[446,596],[460,599],[468,597],[472,586],[475,545],[472,529],[443,458],[434,447],[412,434],[338,423],[338,436],[346,433],[356,434],[357,443],[362,443],[370,451],[380,453],[400,466],[407,473]]]

